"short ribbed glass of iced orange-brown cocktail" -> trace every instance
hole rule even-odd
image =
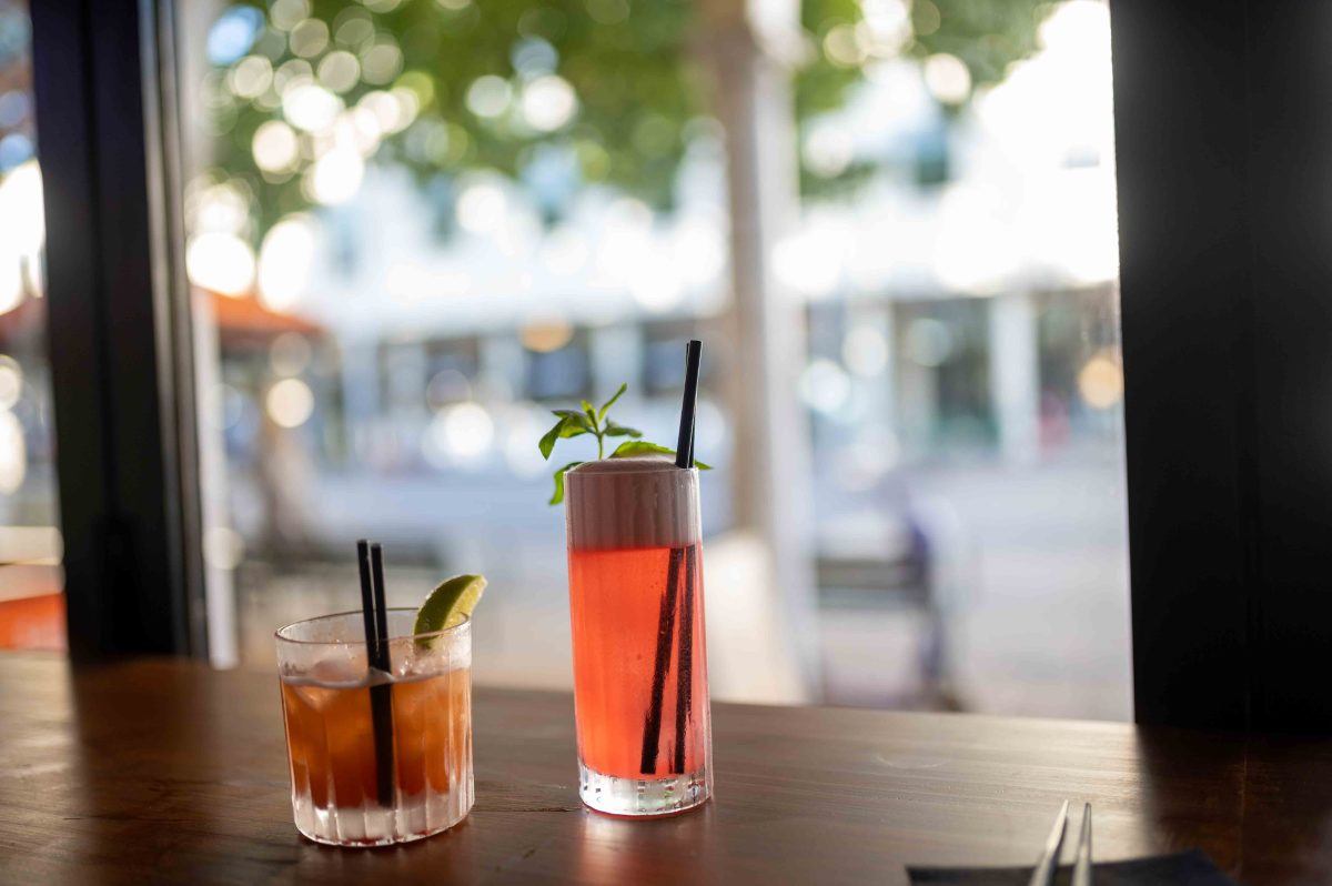
[[[413,637],[414,616],[389,610],[388,674],[366,666],[361,613],[277,634],[292,810],[310,839],[405,842],[472,807],[470,622]],[[386,729],[374,727],[376,694],[392,711]]]

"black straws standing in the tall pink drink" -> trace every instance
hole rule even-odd
[[[685,348],[685,396],[683,402],[681,402],[679,410],[679,436],[675,442],[675,466],[677,468],[693,468],[694,465],[694,410],[698,405],[698,360],[702,354],[703,344],[701,341],[690,340],[689,345]],[[661,731],[662,731],[662,697],[666,694],[666,671],[670,669],[670,653],[671,653],[671,638],[675,633],[675,606],[677,598],[679,596],[679,569],[682,561],[686,560],[685,548],[671,548],[670,560],[666,566],[666,593],[662,597],[661,614],[657,620],[657,657],[653,662],[653,695],[651,703],[647,709],[647,719],[643,723],[643,753],[639,759],[639,771],[645,775],[653,775],[657,773],[657,755],[661,745]],[[690,597],[693,596],[693,580],[690,578],[690,569],[686,565],[685,569],[685,618],[690,620],[690,628],[693,626],[693,605]],[[675,709],[675,758],[673,759],[673,771],[683,771],[683,743],[681,737],[683,734],[683,718],[687,711],[683,710],[682,705],[689,702],[689,694],[685,686],[690,681],[689,670],[693,669],[693,649],[686,653],[686,646],[689,646],[689,637],[681,640],[681,657],[678,662],[678,678],[679,678],[679,694]]]

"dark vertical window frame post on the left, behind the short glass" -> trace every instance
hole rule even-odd
[[[173,5],[31,5],[69,649],[202,656]]]

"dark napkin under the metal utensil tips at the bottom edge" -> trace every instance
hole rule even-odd
[[[1095,865],[1096,886],[1236,886],[1207,853],[1192,849],[1173,855],[1135,858]],[[1055,873],[1055,883],[1067,886],[1072,865]],[[1030,867],[907,867],[912,883],[956,886],[1027,886]]]

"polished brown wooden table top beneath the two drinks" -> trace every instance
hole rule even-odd
[[[478,690],[470,817],[340,850],[292,826],[273,675],[0,656],[0,881],[903,883],[906,863],[1030,863],[1066,797],[1095,806],[1102,861],[1332,871],[1329,739],[743,705],[714,723],[717,799],[617,821],[578,803],[567,695]]]

